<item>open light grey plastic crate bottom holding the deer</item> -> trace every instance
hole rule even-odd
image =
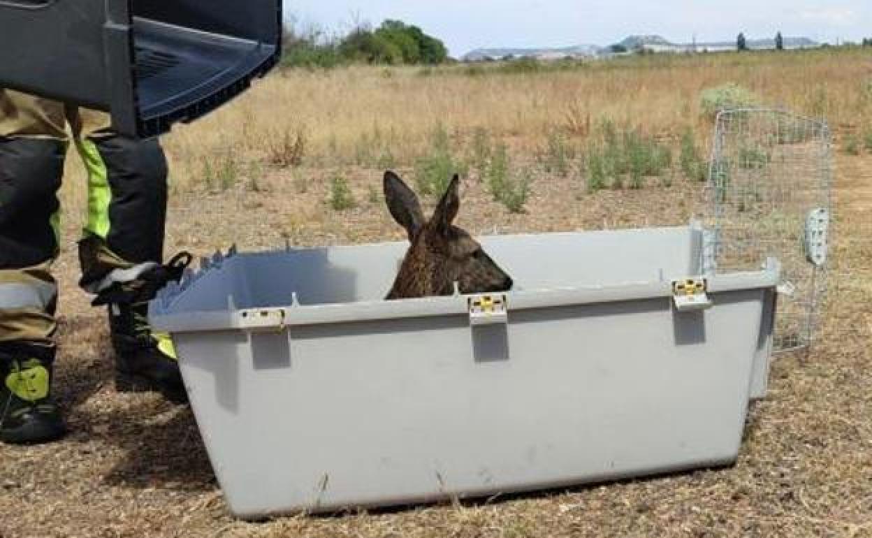
[[[518,288],[491,311],[478,296],[382,301],[405,243],[232,253],[151,318],[242,517],[721,466],[766,390],[780,269],[676,295],[704,237],[486,238]]]

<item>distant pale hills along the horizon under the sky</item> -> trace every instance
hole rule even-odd
[[[760,51],[775,48],[774,39],[747,39],[749,49]],[[785,37],[785,49],[813,49],[821,46],[808,37]],[[717,41],[691,43],[672,43],[664,37],[657,35],[629,36],[620,42],[608,47],[600,47],[596,44],[581,44],[564,48],[487,48],[476,49],[465,54],[461,59],[465,62],[481,62],[486,60],[499,60],[502,58],[603,58],[613,56],[623,51],[649,51],[649,52],[715,52],[735,51],[736,41]]]

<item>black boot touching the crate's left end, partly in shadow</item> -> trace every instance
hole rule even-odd
[[[119,392],[156,391],[168,400],[187,402],[173,341],[148,324],[148,303],[111,304],[109,327],[115,348],[115,386]]]

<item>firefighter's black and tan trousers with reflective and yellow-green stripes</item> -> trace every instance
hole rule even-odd
[[[162,262],[167,160],[158,140],[112,132],[102,112],[0,88],[0,351],[52,347],[68,146],[87,171],[80,285],[99,293]]]

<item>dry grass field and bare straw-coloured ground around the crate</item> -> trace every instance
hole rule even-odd
[[[0,446],[0,536],[872,536],[872,54],[493,69],[276,73],[177,128],[164,140],[173,169],[167,252],[400,239],[379,197],[385,167],[412,179],[446,160],[467,171],[460,224],[476,234],[683,224],[702,208],[704,184],[685,173],[682,139],[705,159],[712,118],[700,96],[736,83],[761,105],[826,117],[837,140],[821,338],[773,365],[736,466],[481,504],[233,521],[190,410],[112,387],[104,315],[76,289],[84,180],[73,158],[57,264],[57,389],[72,435]],[[610,129],[643,140],[628,155],[671,157],[656,174],[630,165],[620,185],[599,185],[591,155],[610,162]],[[495,160],[504,172],[494,173]],[[494,201],[494,185],[512,195]],[[510,203],[519,194],[521,207]]]

